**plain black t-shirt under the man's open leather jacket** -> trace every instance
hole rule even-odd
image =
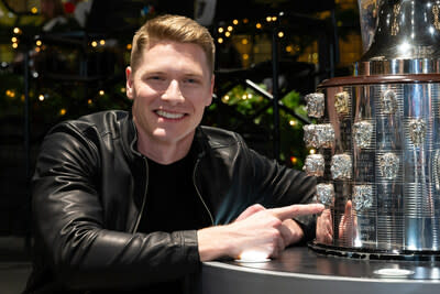
[[[211,225],[196,190],[194,151],[175,163],[163,165],[148,160],[148,187],[139,231],[172,232],[197,230]],[[182,281],[152,285],[147,293],[182,293]]]

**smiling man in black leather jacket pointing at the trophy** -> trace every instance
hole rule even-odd
[[[310,200],[311,177],[235,133],[198,126],[211,102],[213,56],[209,32],[193,20],[151,20],[127,68],[132,112],[50,131],[33,179],[28,292],[183,293],[200,261],[251,250],[276,258],[311,238],[310,216],[293,218],[323,207],[286,206]]]

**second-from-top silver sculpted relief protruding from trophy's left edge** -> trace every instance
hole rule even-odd
[[[331,148],[334,143],[334,130],[330,123],[304,126],[304,141],[311,148]]]

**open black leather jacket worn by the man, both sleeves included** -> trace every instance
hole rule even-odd
[[[258,155],[237,133],[199,127],[195,140],[194,184],[212,225],[255,203],[307,203],[315,193],[312,177]],[[142,287],[198,269],[196,230],[136,232],[148,166],[135,143],[125,111],[63,122],[46,135],[33,178],[35,260],[28,292]],[[312,238],[314,220],[300,222]]]

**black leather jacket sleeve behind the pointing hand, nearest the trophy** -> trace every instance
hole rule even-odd
[[[244,149],[248,149],[244,142],[242,144]],[[251,149],[248,149],[245,153],[250,156],[248,161],[251,163],[253,178],[251,195],[256,197],[256,202],[265,207],[312,202],[316,193],[315,177],[280,165],[275,160],[270,160]],[[316,217],[300,216],[296,217],[295,220],[304,230],[305,238],[302,241],[312,240],[316,233]]]

